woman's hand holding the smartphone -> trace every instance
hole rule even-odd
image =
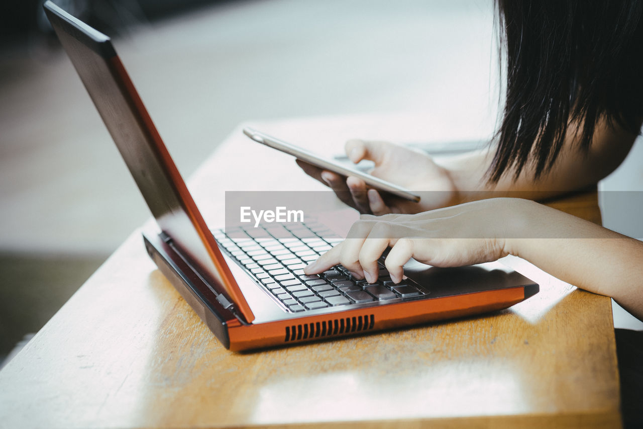
[[[360,178],[343,178],[331,171],[297,160],[303,171],[331,187],[340,200],[360,213],[378,216],[387,213],[419,213],[457,204],[457,189],[448,171],[435,164],[424,152],[390,142],[367,140],[349,140],[345,149],[349,159],[356,164],[361,160],[375,162],[374,169],[370,171],[371,175],[405,187],[414,193],[421,193],[422,196],[419,203],[383,196],[375,189],[369,189]],[[422,191],[433,192],[422,194]]]

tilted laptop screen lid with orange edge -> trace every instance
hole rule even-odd
[[[44,9],[161,231],[208,283],[219,286],[215,294],[224,294],[246,321],[253,321],[248,302],[109,37],[51,1]]]

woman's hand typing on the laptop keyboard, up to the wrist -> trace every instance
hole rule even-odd
[[[410,258],[437,267],[457,267],[507,256],[505,237],[524,227],[538,204],[493,198],[419,214],[363,215],[345,241],[304,271],[323,272],[341,264],[357,278],[377,280],[377,260],[390,247],[385,265],[391,279],[403,279]]]

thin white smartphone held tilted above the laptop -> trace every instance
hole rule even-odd
[[[256,129],[246,127],[243,129],[243,132],[249,138],[255,140],[255,142],[265,144],[270,148],[277,149],[278,151],[285,152],[289,155],[293,155],[293,157],[312,164],[313,166],[332,171],[334,173],[337,173],[338,175],[345,177],[356,176],[361,178],[361,180],[364,180],[364,182],[368,186],[378,189],[379,191],[385,191],[392,195],[399,196],[400,198],[404,198],[406,200],[414,202],[420,201],[420,196],[412,193],[411,191],[408,191],[408,189],[404,189],[401,186],[386,182],[386,180],[371,176],[368,173],[359,171],[356,168],[343,166],[336,161],[320,157],[320,155],[312,153],[307,149],[303,149],[298,146],[294,146],[294,144],[290,144],[284,142],[283,140],[279,140],[278,138],[271,137],[267,134],[257,131]]]

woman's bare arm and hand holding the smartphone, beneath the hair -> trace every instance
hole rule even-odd
[[[346,151],[350,160],[373,160],[376,167],[372,175],[421,193],[423,196],[419,204],[399,199],[384,200],[376,191],[368,191],[359,178],[342,178],[302,162],[300,166],[361,213],[418,213],[481,198],[514,196],[540,200],[583,189],[616,169],[628,155],[636,138],[620,128],[611,128],[599,122],[590,151],[583,153],[574,144],[574,132],[570,130],[568,135],[556,164],[547,175],[534,181],[534,171],[527,166],[516,181],[509,172],[493,186],[485,179],[493,158],[493,148],[434,160],[426,153],[388,142],[347,142]]]

